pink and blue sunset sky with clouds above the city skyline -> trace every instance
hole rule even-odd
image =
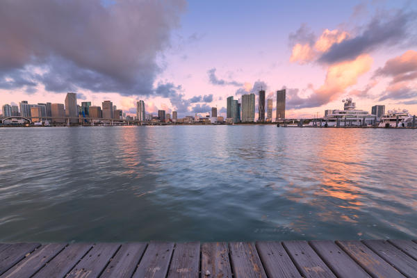
[[[417,1],[0,1],[0,105],[111,100],[206,115],[286,88],[286,117],[352,97],[417,114]],[[256,111],[257,112],[257,111]]]

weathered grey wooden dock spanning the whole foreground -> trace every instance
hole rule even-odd
[[[0,243],[5,277],[417,277],[417,243]]]

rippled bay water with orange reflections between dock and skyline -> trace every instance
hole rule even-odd
[[[0,241],[416,238],[417,131],[0,129]]]

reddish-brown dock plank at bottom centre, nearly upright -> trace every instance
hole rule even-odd
[[[231,278],[229,249],[227,248],[227,243],[202,244],[201,277]]]

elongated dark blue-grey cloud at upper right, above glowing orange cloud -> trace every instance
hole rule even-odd
[[[361,34],[332,44],[320,58],[319,63],[332,64],[343,60],[352,60],[377,47],[389,47],[402,44],[409,38],[411,22],[416,13],[398,10],[392,15],[377,15],[363,28]]]

